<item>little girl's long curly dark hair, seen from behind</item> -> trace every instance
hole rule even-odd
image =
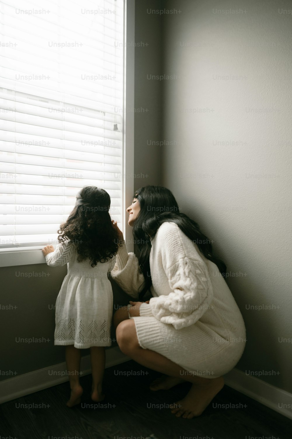
[[[108,262],[119,248],[118,232],[109,214],[111,198],[107,191],[85,186],[76,197],[76,205],[58,230],[58,241],[70,239],[77,246],[78,261]]]

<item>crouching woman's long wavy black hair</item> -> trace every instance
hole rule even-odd
[[[153,238],[166,221],[172,221],[198,246],[205,258],[212,261],[218,267],[220,273],[225,276],[226,265],[213,254],[212,244],[201,232],[195,221],[184,213],[180,213],[177,201],[169,189],[162,186],[144,186],[135,192],[134,197],[140,203],[140,212],[133,223],[133,237],[138,244],[140,251],[139,266],[144,274],[145,282],[139,293],[142,299],[146,291],[151,287],[149,255],[151,250],[150,237]]]

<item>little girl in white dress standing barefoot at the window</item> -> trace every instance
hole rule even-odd
[[[60,244],[43,248],[49,266],[68,263],[56,301],[54,344],[65,348],[72,407],[80,402],[81,349],[90,348],[93,401],[102,401],[105,346],[111,346],[112,285],[108,273],[115,265],[119,237],[109,215],[110,197],[104,189],[83,187],[67,221],[58,230]]]

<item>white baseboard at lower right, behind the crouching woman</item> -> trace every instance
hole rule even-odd
[[[285,392],[259,378],[246,375],[236,368],[224,375],[224,381],[232,389],[292,419],[292,393]]]

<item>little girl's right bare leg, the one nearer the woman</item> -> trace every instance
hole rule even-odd
[[[105,373],[105,348],[103,346],[92,346],[90,348],[92,388],[91,399],[100,402],[105,399],[102,393],[102,380]]]

